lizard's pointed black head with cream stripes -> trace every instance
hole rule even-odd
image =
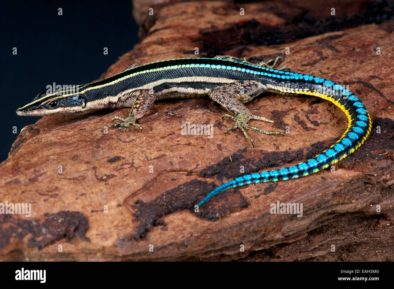
[[[19,116],[85,114],[86,98],[83,92],[76,92],[75,89],[63,89],[54,93],[43,91],[16,112]]]

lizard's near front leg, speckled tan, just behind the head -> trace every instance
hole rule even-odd
[[[149,110],[149,108],[151,108],[155,99],[156,96],[153,89],[138,89],[136,91],[132,91],[128,95],[122,96],[118,101],[118,107],[130,107],[131,101],[133,102],[133,104],[131,106],[130,114],[127,118],[119,116],[114,116],[112,118],[112,120],[119,119],[123,121],[115,123],[114,127],[118,126],[119,129],[122,129],[122,127],[124,127],[126,130],[129,125],[134,125],[142,131],[141,125],[136,123],[136,121],[137,119],[143,117],[144,114]]]

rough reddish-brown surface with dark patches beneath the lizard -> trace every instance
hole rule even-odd
[[[223,134],[232,123],[205,98],[156,103],[143,132],[111,128],[128,109],[43,117],[0,164],[0,202],[32,203],[30,218],[0,214],[0,260],[394,261],[394,4],[337,1],[333,16],[324,1],[155,3],[134,1],[141,43],[102,78],[196,47],[251,62],[281,55],[279,67],[349,85],[372,116],[370,137],[335,172],[228,190],[195,213],[241,166],[257,172],[322,152],[346,117],[313,97],[264,94],[247,106],[275,123],[250,123],[290,134],[251,132],[255,148],[240,131]],[[212,124],[213,137],[182,135],[187,122]],[[270,214],[277,201],[303,203],[303,216]]]

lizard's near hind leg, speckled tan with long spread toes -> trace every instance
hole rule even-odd
[[[249,140],[253,147],[255,142],[247,135],[245,129],[250,129],[252,131],[260,132],[263,134],[281,134],[282,132],[274,131],[263,131],[256,127],[251,127],[247,125],[250,119],[258,119],[262,121],[268,121],[273,123],[272,120],[266,119],[265,117],[255,116],[243,103],[251,101],[260,93],[264,92],[265,87],[257,81],[254,80],[243,80],[232,82],[229,84],[223,84],[217,88],[212,89],[208,96],[216,101],[217,103],[224,106],[228,111],[236,115],[236,117],[230,116],[229,114],[223,114],[222,117],[228,117],[235,121],[233,127],[229,127],[225,133],[233,131],[235,129],[240,129],[247,140]]]

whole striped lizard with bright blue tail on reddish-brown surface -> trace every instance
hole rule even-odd
[[[371,117],[360,99],[348,89],[331,80],[312,75],[275,69],[276,62],[251,62],[233,56],[214,58],[174,58],[145,65],[133,63],[124,71],[103,80],[75,88],[43,91],[32,102],[17,109],[20,116],[71,115],[78,116],[104,108],[131,108],[128,117],[114,116],[119,129],[135,126],[142,131],[137,120],[155,101],[167,98],[194,98],[208,96],[223,106],[234,121],[225,133],[240,129],[253,147],[255,143],[246,130],[262,134],[284,135],[282,132],[264,131],[247,124],[251,119],[272,120],[256,116],[245,103],[263,92],[281,95],[314,96],[331,101],[348,117],[344,134],[328,149],[296,166],[245,174],[214,188],[199,203],[238,186],[252,183],[282,181],[319,172],[347,157],[358,149],[372,129]],[[270,65],[269,63],[273,63]]]

